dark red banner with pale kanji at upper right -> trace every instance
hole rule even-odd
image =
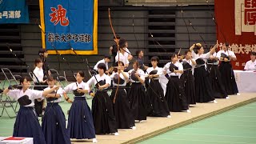
[[[217,39],[228,42],[238,60],[233,69],[243,70],[250,60],[250,52],[256,52],[256,0],[215,0]]]

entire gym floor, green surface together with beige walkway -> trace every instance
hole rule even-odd
[[[71,94],[70,98],[73,99]],[[91,98],[87,99],[89,106],[91,100]],[[118,130],[119,136],[97,135],[96,137],[98,143],[104,144],[138,143],[147,138],[151,139],[142,143],[256,143],[256,125],[254,125],[256,94],[231,95],[230,99],[217,99],[217,101],[217,104],[198,103],[190,107],[191,113],[171,113],[172,118],[147,118],[142,123],[136,123],[136,130]],[[243,106],[250,102],[254,103]],[[67,114],[71,104],[61,102],[60,105]],[[242,107],[237,108],[238,106]],[[226,112],[226,110],[230,111]],[[10,115],[14,115],[13,110],[8,108],[8,111]],[[0,112],[2,112],[1,104]],[[220,114],[222,112],[225,113]],[[0,117],[0,136],[12,134],[14,121],[15,118],[9,118],[6,112],[3,113]],[[162,135],[154,137],[158,134]],[[72,143],[91,142],[87,139],[82,142],[72,140]]]

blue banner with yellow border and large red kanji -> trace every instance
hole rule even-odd
[[[98,0],[39,2],[42,47],[49,54],[98,54]]]

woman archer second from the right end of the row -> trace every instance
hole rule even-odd
[[[212,49],[213,46],[210,47]],[[222,82],[222,74],[218,70],[219,59],[217,57],[217,53],[214,52],[207,59],[207,70],[210,74],[210,84],[213,88],[214,98],[229,98],[226,94],[225,87]]]

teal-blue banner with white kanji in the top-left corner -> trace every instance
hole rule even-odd
[[[0,24],[29,22],[26,0],[0,0]]]

